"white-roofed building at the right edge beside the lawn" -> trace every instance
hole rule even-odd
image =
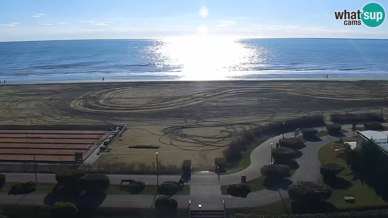
[[[362,144],[367,141],[372,141],[383,152],[388,154],[388,131],[357,131],[356,149],[360,149]]]

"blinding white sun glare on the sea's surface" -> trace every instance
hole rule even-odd
[[[199,27],[197,37],[163,40],[156,52],[164,56],[170,66],[180,68],[176,72],[184,80],[224,80],[243,76],[250,63],[260,59],[254,48],[239,40],[206,35],[207,29]]]

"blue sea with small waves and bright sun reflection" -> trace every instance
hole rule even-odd
[[[385,78],[388,40],[66,40],[0,43],[0,80]]]

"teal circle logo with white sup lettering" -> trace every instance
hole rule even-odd
[[[369,3],[362,8],[362,22],[369,27],[380,26],[385,18],[385,11],[378,3]]]

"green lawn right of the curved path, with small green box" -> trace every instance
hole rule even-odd
[[[344,138],[344,141],[354,140],[355,138]],[[334,146],[334,147],[332,147]],[[378,206],[388,206],[388,202],[383,201],[380,197],[376,196],[373,189],[369,188],[366,184],[363,184],[360,180],[353,177],[352,170],[346,166],[345,159],[343,157],[343,151],[335,151],[335,149],[343,148],[342,145],[331,142],[324,145],[319,150],[319,160],[324,162],[336,162],[345,166],[345,170],[342,171],[338,177],[342,178],[343,182],[350,182],[351,186],[342,189],[333,189],[332,197],[329,202],[334,204],[337,209],[351,209],[351,208],[368,208]],[[346,181],[344,181],[346,180]],[[320,180],[322,182],[322,178]],[[344,196],[353,196],[355,198],[354,204],[346,203],[343,199]]]

